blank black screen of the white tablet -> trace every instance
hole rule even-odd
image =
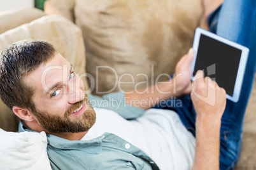
[[[201,34],[193,75],[204,70],[204,76],[214,79],[232,96],[241,53],[240,49]]]

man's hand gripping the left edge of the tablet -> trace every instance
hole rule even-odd
[[[194,49],[190,48],[187,55],[183,56],[176,65],[175,77],[171,79],[176,86],[176,96],[188,95],[192,90],[191,76],[192,68],[191,64],[194,58]]]

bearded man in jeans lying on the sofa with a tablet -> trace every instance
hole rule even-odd
[[[23,130],[45,131],[48,134],[48,156],[53,169],[190,169],[192,166],[194,169],[227,169],[233,168],[236,163],[241,138],[235,138],[237,135],[233,134],[238,133],[238,137],[241,134],[246,102],[250,95],[250,90],[246,88],[252,89],[255,59],[251,54],[238,104],[227,101],[225,108],[224,89],[219,88],[209,77],[204,78],[202,71],[197,72],[196,81],[191,84],[190,65],[194,54],[190,50],[176,66],[176,76],[182,76],[174,77],[169,84],[142,90],[150,93],[109,95],[126,103],[119,110],[113,109],[118,114],[103,109],[94,112],[89,101],[99,98],[88,98],[83,93],[80,77],[48,42],[20,41],[6,48],[0,57],[1,99],[20,118]],[[154,90],[156,88],[170,93],[158,93]],[[195,93],[208,95],[208,101],[199,100]],[[191,95],[196,117],[194,109],[187,107],[190,100],[185,98],[188,98],[188,94]],[[150,109],[144,113],[142,109],[152,107],[150,98],[167,100],[172,96],[183,95],[185,97],[181,100],[184,105],[180,110],[189,108],[190,117],[187,121],[196,119],[191,127],[187,126],[178,108],[174,109],[185,126],[171,110]],[[134,99],[144,102],[139,106],[142,108],[132,107],[136,106],[132,103]],[[216,101],[215,105],[209,105],[211,101]],[[220,132],[225,130],[221,126],[223,114],[227,119],[232,114],[241,117],[238,129],[233,126],[230,128],[229,136],[233,138],[225,139],[232,146],[227,143],[224,147],[222,144],[223,134],[220,135]],[[132,120],[126,121],[119,115]],[[187,116],[188,112],[184,115]],[[234,120],[226,122],[229,121]],[[195,129],[195,122],[194,157],[195,139],[185,127]],[[238,153],[233,150],[236,148]]]

